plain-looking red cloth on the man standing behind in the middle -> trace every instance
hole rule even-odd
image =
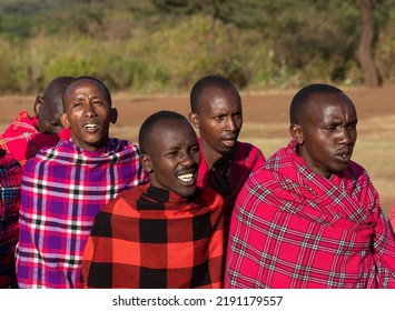
[[[200,139],[199,139],[200,144]],[[205,154],[200,144],[201,163],[199,167],[196,184],[200,188],[210,185],[210,173]],[[230,192],[225,200],[225,225],[229,228],[231,211],[235,205],[237,194],[240,192],[248,175],[260,168],[265,162],[263,152],[255,146],[237,141],[234,148],[234,157],[230,163]]]

